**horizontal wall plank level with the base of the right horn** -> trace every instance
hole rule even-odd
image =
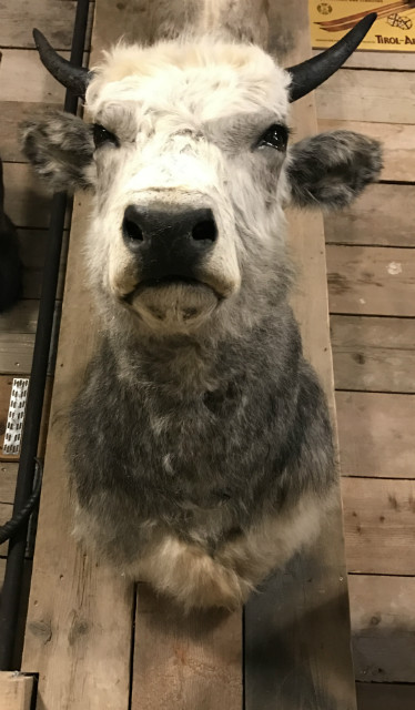
[[[357,73],[341,69],[316,90],[317,115],[336,121],[413,124],[414,92],[415,74],[409,71],[363,69]]]

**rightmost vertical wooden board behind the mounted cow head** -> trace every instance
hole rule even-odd
[[[307,3],[272,3],[271,38],[280,28],[284,37],[276,51],[284,64],[304,60],[310,54]],[[295,104],[294,119],[296,140],[316,132],[313,95]],[[322,215],[291,213],[290,234],[300,272],[295,313],[334,419]],[[340,503],[313,549],[275,574],[246,605],[245,699],[246,710],[356,708]]]

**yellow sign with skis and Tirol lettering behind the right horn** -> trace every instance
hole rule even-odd
[[[331,47],[363,17],[377,12],[360,49],[415,52],[415,0],[308,0],[308,7],[314,49]]]

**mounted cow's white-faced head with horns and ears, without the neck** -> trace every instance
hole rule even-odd
[[[334,73],[373,20],[289,70],[257,47],[202,37],[118,45],[89,72],[36,33],[91,122],[31,121],[23,150],[54,190],[92,189],[88,261],[107,312],[141,333],[213,333],[285,298],[283,207],[346,205],[381,168],[377,142],[346,131],[289,146],[290,103]]]

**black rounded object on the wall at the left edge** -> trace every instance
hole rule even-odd
[[[8,311],[21,294],[22,264],[14,224],[4,214],[3,164],[0,159],[0,313]]]

